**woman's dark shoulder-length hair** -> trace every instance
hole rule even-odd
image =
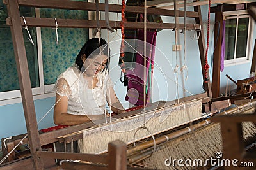
[[[100,46],[101,46],[101,49],[100,49]],[[86,59],[87,58],[94,58],[97,55],[99,55],[100,50],[101,50],[102,54],[108,56],[108,61],[107,61],[106,67],[104,68],[104,70],[106,70],[108,68],[108,65],[109,65],[108,62],[110,60],[110,58],[109,58],[110,50],[109,50],[108,43],[104,39],[102,39],[102,38],[92,38],[92,39],[89,39],[83,45],[83,47],[81,48],[80,52],[78,53],[78,55],[76,57],[76,64],[79,67],[79,70],[82,69],[83,64],[84,64],[83,60],[81,59],[81,57],[83,57],[84,54],[86,56]]]

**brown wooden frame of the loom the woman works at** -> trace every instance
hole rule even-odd
[[[24,107],[24,114],[26,118],[26,127],[28,131],[28,138],[24,139],[24,143],[29,143],[29,147],[31,150],[31,157],[26,159],[21,159],[16,162],[10,162],[9,164],[4,164],[0,166],[0,169],[13,169],[18,167],[26,167],[26,169],[45,169],[49,167],[49,161],[47,158],[59,158],[59,159],[74,159],[74,160],[87,160],[91,162],[102,162],[108,164],[109,169],[126,169],[126,157],[125,157],[125,145],[124,143],[120,143],[116,141],[109,145],[109,153],[107,155],[90,155],[90,154],[81,154],[81,153],[58,153],[58,152],[44,152],[42,151],[41,146],[47,145],[49,143],[55,143],[60,141],[58,139],[59,136],[64,136],[67,134],[71,134],[73,132],[81,131],[83,129],[87,129],[88,127],[92,127],[94,124],[89,122],[87,124],[76,125],[72,127],[67,127],[65,129],[60,129],[58,131],[52,131],[45,134],[38,134],[38,127],[36,123],[35,117],[35,107],[33,104],[33,96],[31,92],[31,85],[29,80],[29,72],[28,72],[28,63],[26,60],[26,52],[24,47],[24,39],[22,35],[22,27],[24,27],[24,21],[19,15],[19,6],[31,6],[37,8],[58,8],[58,9],[69,9],[69,10],[88,10],[95,11],[94,3],[84,3],[79,1],[36,1],[36,0],[4,0],[4,4],[8,6],[8,15],[9,17],[6,19],[6,22],[11,27],[12,31],[12,39],[13,46],[15,50],[15,59],[17,62],[17,71],[19,74],[19,83],[20,90],[22,94],[22,103]],[[104,11],[104,4],[99,4],[99,10]],[[195,18],[194,24],[186,24],[186,29],[200,29],[200,23],[202,23],[201,18],[201,10],[200,6],[194,7],[195,12],[188,11],[186,13],[186,17]],[[120,12],[121,6],[109,4],[110,12]],[[137,6],[127,6],[125,9],[126,12],[129,13],[144,13],[143,7]],[[173,10],[163,10],[157,8],[148,8],[148,14],[157,14],[157,15],[166,15],[166,16],[175,16]],[[179,11],[179,17],[184,17],[184,11]],[[55,20],[53,18],[31,18],[25,17],[28,27],[56,27]],[[58,27],[83,27],[83,28],[96,28],[97,23],[93,20],[72,20],[72,19],[58,19]],[[110,26],[112,28],[120,28],[119,22],[110,21]],[[106,28],[104,25],[104,21],[100,21],[100,25],[102,28]],[[125,22],[125,28],[143,28],[143,23],[140,22]],[[170,29],[175,27],[174,24],[161,24],[161,23],[147,23],[148,29]],[[177,24],[177,29],[183,29],[184,24]],[[204,66],[205,60],[205,42],[204,42],[204,31],[199,32],[200,34],[198,39],[198,45],[200,50],[200,59],[201,64]],[[202,69],[202,74],[204,77],[204,69]],[[203,105],[205,106],[206,111],[212,111],[212,113],[218,111],[220,108],[224,108],[227,106],[225,103],[220,103],[218,101],[211,102],[212,94],[211,94],[211,83],[207,81],[205,83],[205,91],[207,91],[207,96],[205,94],[200,94],[196,96],[186,97],[186,100],[196,99],[202,97],[204,99]],[[156,108],[157,105],[148,106],[147,110],[152,108]],[[135,112],[126,113],[127,115],[132,115]],[[118,117],[121,117],[118,115]],[[118,118],[116,117],[116,118]],[[23,138],[24,135],[16,136],[12,141],[7,142],[7,151],[9,152],[13,146],[19,143],[20,139]],[[73,138],[74,139],[74,138]],[[68,143],[68,138],[65,139],[65,142]],[[116,151],[115,149],[120,152]],[[116,156],[115,156],[116,155]],[[122,155],[122,161],[117,162],[118,156]],[[96,161],[97,159],[97,161]],[[12,160],[12,159],[11,159]],[[108,161],[107,161],[108,160]],[[45,163],[47,162],[47,163]],[[52,162],[52,161],[51,161]],[[52,165],[52,164],[50,164]],[[91,167],[91,166],[89,166]],[[96,168],[96,167],[95,167]],[[102,167],[102,169],[106,169],[107,167]],[[100,167],[99,167],[100,169]]]

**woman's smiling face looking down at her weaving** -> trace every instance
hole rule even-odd
[[[86,57],[82,58],[84,62],[84,74],[86,76],[96,76],[99,71],[102,71],[108,62],[108,56],[107,55],[97,55],[94,58],[88,58]]]

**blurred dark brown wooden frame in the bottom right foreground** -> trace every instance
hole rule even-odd
[[[236,110],[237,107],[234,109]],[[253,166],[255,166],[255,151],[245,150],[242,131],[242,122],[253,122],[256,125],[255,113],[243,115],[220,115],[211,118],[212,122],[220,122],[223,143],[223,157],[225,159],[237,159],[239,162],[253,162]],[[234,168],[252,169],[252,167],[226,166],[225,170],[231,170]]]

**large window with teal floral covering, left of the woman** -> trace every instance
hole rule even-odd
[[[20,16],[88,19],[88,12],[20,7]],[[5,21],[7,17],[6,5],[0,1],[0,105],[8,99],[20,97],[12,34]],[[23,29],[32,92],[33,95],[46,94],[52,92],[58,75],[76,59],[81,46],[88,40],[88,29],[58,28],[58,45],[55,29],[30,27],[29,32],[35,45],[29,42],[28,32]]]

